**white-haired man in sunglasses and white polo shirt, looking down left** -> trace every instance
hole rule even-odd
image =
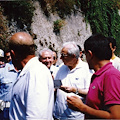
[[[88,64],[80,59],[79,48],[75,42],[66,42],[61,50],[63,65],[60,66],[55,80],[61,80],[62,86],[57,89],[54,118],[61,120],[82,120],[84,114],[68,108],[66,99],[69,95],[81,95],[80,98],[85,102],[91,74]],[[67,93],[70,92],[70,93]]]

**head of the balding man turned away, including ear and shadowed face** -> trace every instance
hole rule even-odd
[[[17,32],[9,40],[12,62],[15,67],[21,69],[20,63],[29,55],[35,54],[35,45],[30,34]]]

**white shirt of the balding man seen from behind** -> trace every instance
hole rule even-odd
[[[53,80],[37,57],[24,66],[16,83],[10,106],[10,120],[52,120]]]

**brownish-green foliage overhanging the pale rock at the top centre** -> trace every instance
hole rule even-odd
[[[77,0],[38,0],[47,17],[49,12],[57,12],[61,18],[71,15],[74,12],[74,5]]]

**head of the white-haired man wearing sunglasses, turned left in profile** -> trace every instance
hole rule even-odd
[[[63,44],[61,50],[61,59],[65,65],[69,67],[75,66],[77,64],[78,58],[80,56],[79,48],[75,42],[66,42]]]

